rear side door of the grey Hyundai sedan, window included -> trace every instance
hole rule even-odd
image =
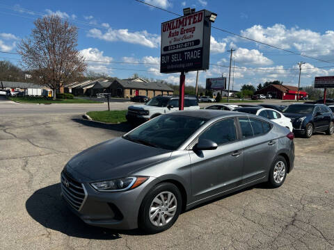
[[[239,117],[244,151],[243,183],[260,181],[267,176],[276,156],[277,139],[273,138],[273,125],[262,119]]]

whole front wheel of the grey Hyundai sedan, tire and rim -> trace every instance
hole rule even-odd
[[[160,183],[146,194],[138,225],[147,233],[160,233],[173,226],[182,209],[180,190],[173,183]]]

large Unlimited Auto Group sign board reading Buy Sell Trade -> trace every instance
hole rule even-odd
[[[161,73],[209,69],[209,15],[200,10],[161,24]]]

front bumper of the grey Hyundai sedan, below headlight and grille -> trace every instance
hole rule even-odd
[[[86,224],[113,229],[138,228],[138,212],[145,194],[154,185],[150,177],[134,190],[123,192],[98,192],[88,183],[83,183],[86,198],[79,209],[66,199],[62,183],[61,196],[72,212]],[[64,195],[65,194],[65,195]]]

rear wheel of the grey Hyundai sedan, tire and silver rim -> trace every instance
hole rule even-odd
[[[280,187],[287,177],[287,161],[283,156],[278,156],[274,160],[269,172],[269,185],[272,188]]]

